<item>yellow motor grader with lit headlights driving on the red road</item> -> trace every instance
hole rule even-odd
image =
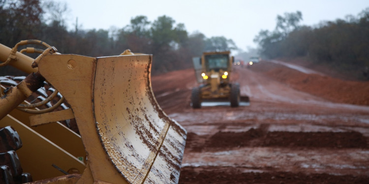
[[[240,84],[230,82],[234,57],[230,51],[204,52],[201,57],[192,58],[195,75],[199,86],[192,88],[191,104],[201,108],[201,103],[228,101],[232,107],[240,102],[248,102],[248,97],[241,97]]]

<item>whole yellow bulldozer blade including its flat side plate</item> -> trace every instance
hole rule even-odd
[[[178,183],[186,131],[157,105],[151,55],[47,55],[40,74],[71,105],[87,154],[77,183]]]

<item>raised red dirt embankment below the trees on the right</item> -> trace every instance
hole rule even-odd
[[[305,74],[286,66],[262,61],[250,69],[263,72],[271,79],[290,87],[325,98],[329,101],[354,105],[369,105],[369,82],[336,79],[319,74]]]

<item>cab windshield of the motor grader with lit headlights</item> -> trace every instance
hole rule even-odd
[[[227,70],[229,64],[228,54],[205,55],[205,65],[208,71],[214,70],[218,72],[219,69]]]

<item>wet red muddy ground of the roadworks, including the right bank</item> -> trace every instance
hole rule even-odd
[[[234,66],[248,106],[190,106],[192,69],[152,77],[187,130],[180,184],[369,184],[369,82],[292,63]]]

